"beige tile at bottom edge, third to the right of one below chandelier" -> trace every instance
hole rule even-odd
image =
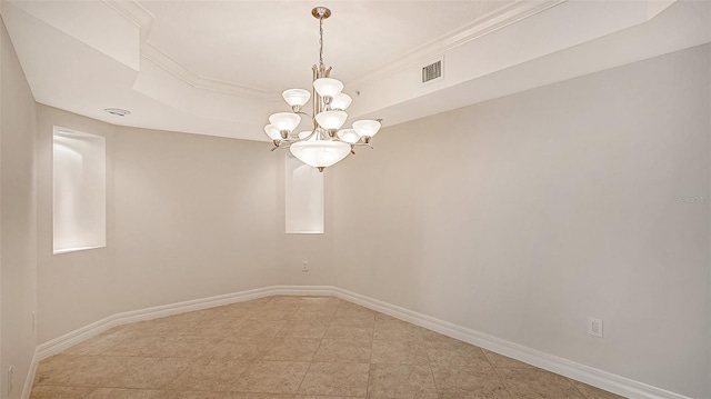
[[[567,378],[545,370],[498,368],[497,372],[512,399],[585,399]]]

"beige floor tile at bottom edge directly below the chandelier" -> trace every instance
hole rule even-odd
[[[364,397],[369,369],[367,363],[311,363],[299,393]]]

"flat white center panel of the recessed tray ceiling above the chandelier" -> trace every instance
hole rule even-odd
[[[314,6],[327,6],[324,61],[343,81],[375,70],[508,1],[144,1],[147,41],[200,77],[267,92],[308,87],[319,57]],[[397,32],[397,34],[393,34]]]

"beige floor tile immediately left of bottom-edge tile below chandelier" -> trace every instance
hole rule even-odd
[[[308,369],[306,361],[258,361],[240,378],[234,391],[297,393]]]

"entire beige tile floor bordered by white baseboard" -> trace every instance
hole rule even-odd
[[[40,362],[32,399],[612,399],[337,298],[124,325]]]

